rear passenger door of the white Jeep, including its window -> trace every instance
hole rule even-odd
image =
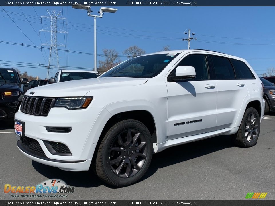
[[[223,56],[210,55],[212,72],[217,82],[216,130],[233,127],[245,98],[249,98],[246,82],[236,78],[232,61]]]

